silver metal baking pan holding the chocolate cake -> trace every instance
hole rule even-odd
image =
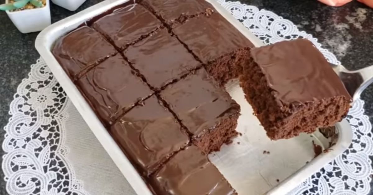
[[[84,97],[51,53],[51,48],[58,38],[94,16],[102,14],[127,1],[106,0],[73,16],[60,20],[47,27],[38,35],[35,46],[66,91],[72,103],[87,122],[104,149],[112,157],[132,188],[134,188],[135,192],[139,195],[150,195],[151,192],[141,176],[131,165],[119,146],[117,146],[87,101],[85,101]],[[254,45],[264,45],[261,40],[256,38],[238,20],[221,7],[217,1],[208,1],[233,26],[250,39]],[[351,143],[352,130],[346,120],[336,124],[338,136],[335,139],[335,144],[328,150],[329,152],[324,152],[316,158],[314,158],[312,141],[322,146],[323,149],[329,148],[330,141],[319,133],[319,131],[311,135],[301,134],[298,137],[288,140],[271,141],[266,136],[257,118],[253,115],[253,110],[245,100],[244,93],[238,83],[231,82],[227,86],[227,91],[241,105],[242,115],[239,117],[236,130],[242,133],[242,136],[233,139],[233,143],[224,145],[220,152],[211,154],[209,159],[217,166],[225,178],[228,179],[238,194],[286,194],[300,184],[300,182],[317,172],[326,163],[340,155]],[[270,153],[264,154],[264,150]]]

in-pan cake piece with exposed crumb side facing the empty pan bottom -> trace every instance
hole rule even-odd
[[[240,107],[204,69],[167,86],[160,96],[205,154],[237,135]]]

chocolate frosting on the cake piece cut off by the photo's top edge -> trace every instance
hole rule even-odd
[[[213,6],[205,0],[144,0],[153,10],[162,16],[167,22],[172,22],[180,16],[191,16],[204,13]]]

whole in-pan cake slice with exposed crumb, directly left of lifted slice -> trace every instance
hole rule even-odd
[[[189,19],[175,35],[204,63],[220,86],[238,78],[254,45],[217,12]]]

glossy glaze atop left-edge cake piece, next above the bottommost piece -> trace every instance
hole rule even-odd
[[[189,143],[178,121],[155,95],[121,117],[110,133],[144,176]]]

